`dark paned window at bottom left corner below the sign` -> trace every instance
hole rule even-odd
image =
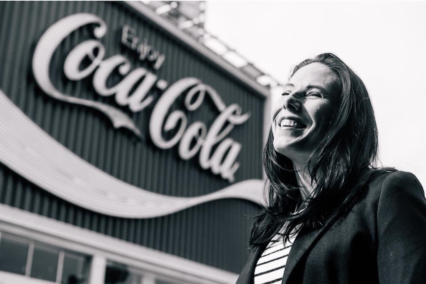
[[[8,234],[0,235],[0,270],[61,284],[85,284],[87,255]]]

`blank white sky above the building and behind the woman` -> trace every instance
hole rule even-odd
[[[207,1],[205,28],[281,82],[305,58],[338,55],[370,92],[383,166],[426,188],[426,2]]]

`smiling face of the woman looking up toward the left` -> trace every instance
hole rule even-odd
[[[325,136],[338,101],[336,76],[322,63],[301,67],[271,102],[274,148],[304,166]]]

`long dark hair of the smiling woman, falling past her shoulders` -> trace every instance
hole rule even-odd
[[[361,79],[339,57],[320,54],[299,63],[290,78],[313,62],[327,65],[335,74],[340,93],[337,107],[328,122],[328,131],[308,161],[316,186],[307,206],[303,203],[292,161],[273,147],[273,134],[263,151],[268,202],[255,220],[250,245],[266,245],[286,224],[285,238],[303,229],[324,226],[340,208],[350,206],[360,196],[377,162],[378,133],[373,106]],[[314,158],[313,158],[314,157]]]

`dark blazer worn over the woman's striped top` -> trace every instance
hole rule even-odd
[[[253,283],[260,254],[250,254],[237,284]],[[346,215],[300,231],[282,283],[426,283],[426,200],[417,178],[382,174]]]

